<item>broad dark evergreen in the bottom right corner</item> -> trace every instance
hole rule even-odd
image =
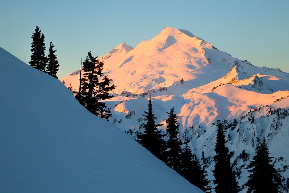
[[[247,192],[278,192],[281,176],[271,164],[273,157],[269,155],[266,138],[264,137],[262,142],[257,139],[255,155],[246,168],[250,173],[248,176],[249,180],[246,183],[248,186]]]

